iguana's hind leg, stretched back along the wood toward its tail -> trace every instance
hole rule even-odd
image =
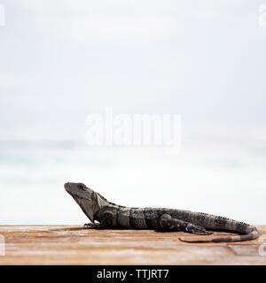
[[[211,234],[205,230],[204,227],[193,225],[180,219],[172,218],[169,214],[163,214],[160,217],[161,229],[167,231],[185,231],[188,233],[197,233],[200,235]]]

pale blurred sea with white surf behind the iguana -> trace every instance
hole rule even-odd
[[[87,223],[64,189],[67,181],[82,182],[121,205],[266,224],[264,124],[188,123],[174,155],[163,146],[89,146],[84,129],[75,134],[73,128],[68,135],[53,130],[53,136],[35,129],[2,132],[1,225]]]

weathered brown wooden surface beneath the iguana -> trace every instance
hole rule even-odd
[[[0,226],[0,264],[266,264],[266,226],[257,227],[254,241],[185,243],[181,232]]]

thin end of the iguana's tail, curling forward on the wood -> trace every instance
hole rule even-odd
[[[181,237],[181,241],[186,242],[230,242],[254,240],[259,236],[258,230],[254,226],[247,226],[246,233],[227,237],[212,238],[211,236]]]

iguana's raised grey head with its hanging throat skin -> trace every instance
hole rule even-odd
[[[71,195],[83,212],[94,222],[94,215],[98,209],[97,193],[82,183],[66,183],[66,192]]]

